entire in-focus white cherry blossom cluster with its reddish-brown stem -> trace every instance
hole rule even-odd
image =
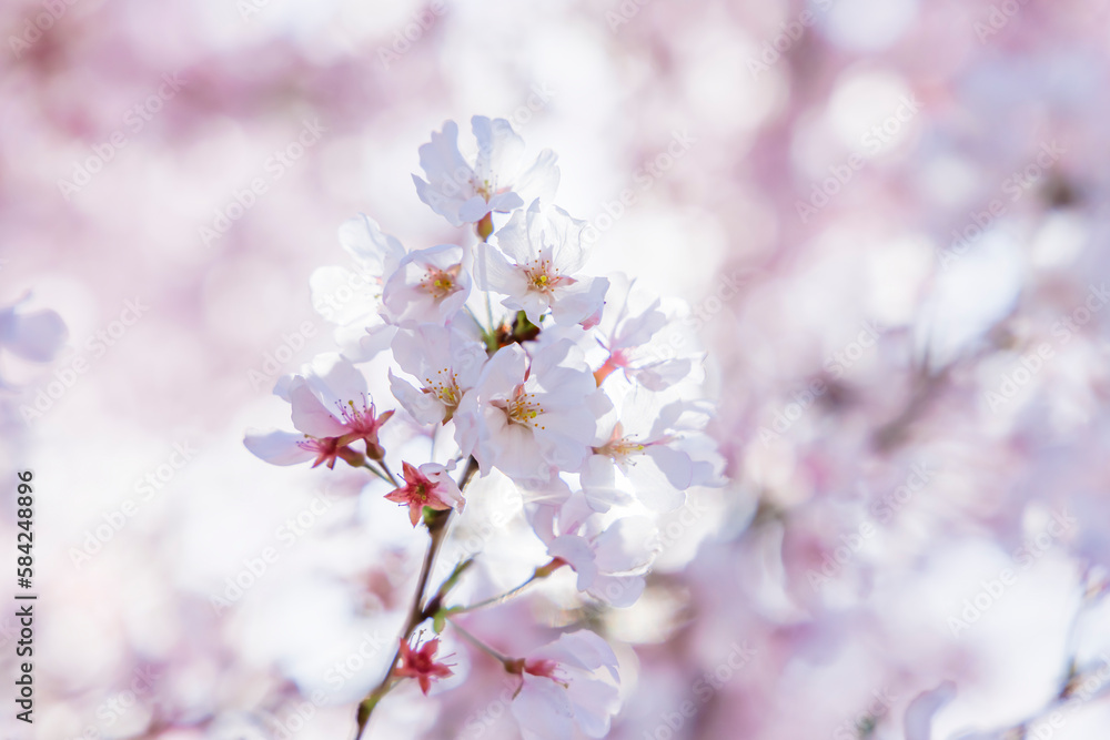
[[[420,645],[422,626],[452,625],[518,678],[513,714],[525,738],[569,738],[575,726],[603,737],[619,704],[606,641],[568,630],[526,657],[503,656],[454,619],[524,589],[448,606],[470,561],[434,590],[432,564],[467,484],[505,476],[549,558],[525,586],[566,568],[586,598],[635,602],[653,517],[682,506],[690,487],[719,483],[709,408],[697,397],[700,358],[672,346],[677,310],[624,275],[586,272],[586,224],[552,203],[552,152],[528,161],[502,119],[476,116],[473,132],[473,158],[460,152],[454,123],[433,133],[420,149],[426,180],[414,178],[421,200],[463,230],[461,243],[407,251],[365,216],[345,223],[342,245],[370,287],[336,311],[330,297],[354,284],[352,272],[313,275],[340,352],[279,382],[296,432],[252,432],[245,444],[276,465],[366,468],[428,530],[400,650],[360,706],[360,732],[395,685],[415,679],[427,693],[452,675],[438,638]],[[377,376],[380,387],[369,379]]]

